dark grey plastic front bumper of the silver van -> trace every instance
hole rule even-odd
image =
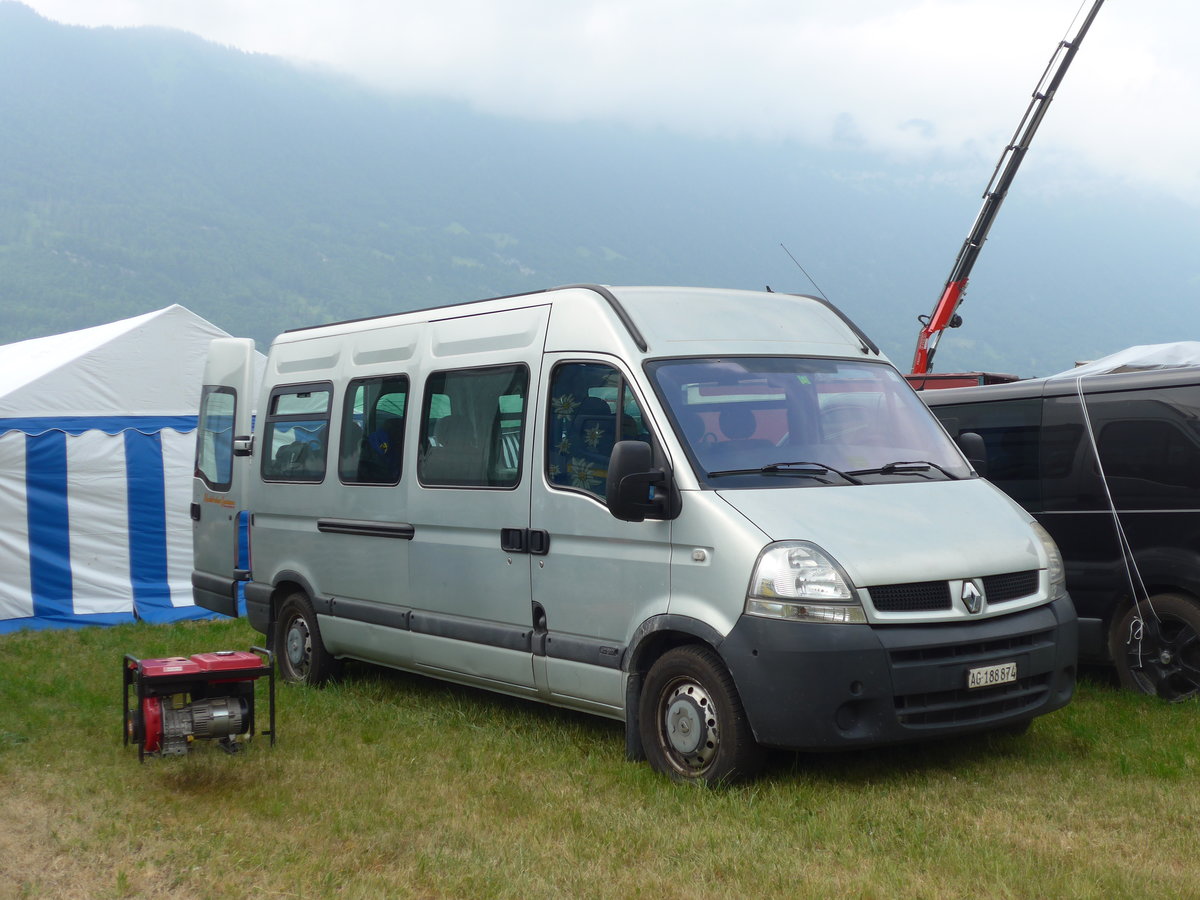
[[[824,625],[743,616],[720,646],[758,743],[871,746],[1018,725],[1066,706],[1078,629],[1066,596],[968,624]],[[1016,662],[1016,682],[967,670]]]

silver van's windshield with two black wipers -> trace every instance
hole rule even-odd
[[[888,365],[793,356],[647,364],[701,481],[818,487],[967,478],[932,414]]]

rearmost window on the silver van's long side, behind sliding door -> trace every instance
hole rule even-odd
[[[263,426],[263,480],[318,482],[325,478],[329,384],[271,391]]]

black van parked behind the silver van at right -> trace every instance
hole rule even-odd
[[[928,390],[986,476],[1057,541],[1080,655],[1166,700],[1200,691],[1200,367]]]

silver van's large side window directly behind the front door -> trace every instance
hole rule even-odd
[[[416,475],[436,487],[514,487],[521,480],[529,370],[434,372],[425,384]]]

